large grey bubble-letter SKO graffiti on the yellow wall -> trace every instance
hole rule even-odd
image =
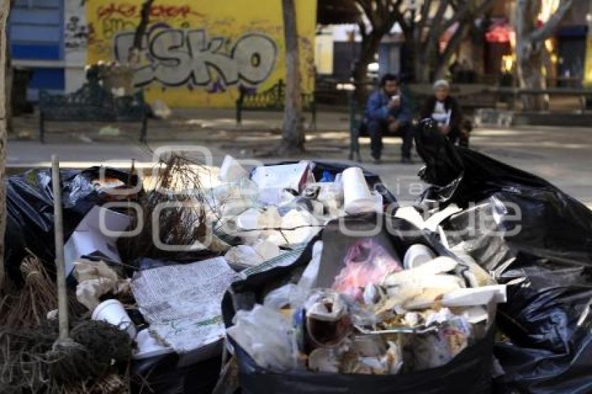
[[[114,39],[117,61],[125,61],[133,32],[118,33]],[[247,34],[232,47],[224,37],[208,40],[203,30],[160,29],[145,40],[148,65],[136,72],[137,86],[159,81],[166,86],[180,86],[188,82],[205,86],[216,81],[224,86],[256,85],[272,72],[277,48],[275,42],[262,34]],[[230,47],[225,50],[225,47]]]

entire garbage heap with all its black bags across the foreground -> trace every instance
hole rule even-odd
[[[60,306],[56,179],[10,177],[0,392],[590,391],[592,212],[429,121],[415,141],[408,207],[322,162],[61,171]]]

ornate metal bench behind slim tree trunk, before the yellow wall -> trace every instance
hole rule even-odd
[[[283,111],[286,99],[286,84],[280,79],[277,84],[263,92],[240,87],[236,100],[236,123],[242,123],[242,111]],[[316,104],[313,94],[302,94],[302,109],[311,113],[311,125],[316,129]]]

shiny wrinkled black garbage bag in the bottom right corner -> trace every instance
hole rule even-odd
[[[494,354],[505,374],[501,393],[592,392],[592,285],[582,267],[532,260],[506,271],[508,303],[498,309],[499,329],[511,342],[498,342]]]

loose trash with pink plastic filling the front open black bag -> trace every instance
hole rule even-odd
[[[506,301],[478,265],[435,257],[424,244],[403,264],[368,238],[348,249],[330,287],[318,278],[322,241],[297,285],[239,310],[228,334],[272,370],[396,375],[445,365],[486,336]],[[473,287],[474,286],[474,287]]]

